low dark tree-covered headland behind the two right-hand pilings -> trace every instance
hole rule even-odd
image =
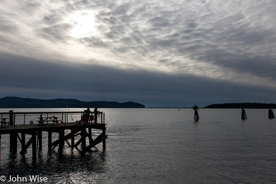
[[[221,104],[212,104],[204,108],[226,108],[226,109],[275,109],[276,104],[274,103],[221,103]]]

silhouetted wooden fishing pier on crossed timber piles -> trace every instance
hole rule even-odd
[[[105,139],[107,138],[107,135],[105,134],[106,124],[104,123],[105,114],[96,114],[100,116],[100,118],[98,118],[99,123],[94,124],[93,121],[91,121],[91,123],[87,121],[79,122],[79,124],[76,125],[76,121],[81,120],[81,117],[84,115],[83,112],[71,112],[69,114],[69,112],[10,111],[8,113],[0,113],[2,123],[2,126],[0,127],[0,145],[1,142],[8,141],[1,140],[1,135],[10,134],[10,152],[17,152],[17,142],[19,140],[21,143],[20,154],[26,154],[27,149],[32,145],[33,159],[35,159],[37,148],[42,148],[42,132],[47,132],[49,151],[58,146],[58,152],[62,153],[65,142],[69,147],[71,147],[71,149],[77,148],[78,145],[81,144],[83,151],[87,151],[100,142],[103,142],[103,149],[105,149]],[[53,117],[55,118],[53,119]],[[43,119],[46,119],[46,121],[43,122]],[[49,119],[52,119],[52,122]],[[92,136],[93,129],[94,139]],[[70,133],[65,135],[65,131],[70,131]],[[52,140],[52,133],[58,133],[58,140]],[[21,137],[19,134],[21,134]],[[27,140],[27,142],[25,139],[26,134],[31,135],[31,138]],[[97,134],[96,138],[95,134]],[[75,137],[78,135],[80,135],[81,138],[75,141]],[[87,137],[89,139],[88,146],[86,146]],[[71,144],[68,141],[70,139]]]

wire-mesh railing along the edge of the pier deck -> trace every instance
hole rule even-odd
[[[76,121],[81,120],[81,116],[86,116],[87,114],[83,111],[81,112],[0,112],[1,122],[6,121],[8,126],[15,125],[33,125],[38,124],[42,126],[43,124],[58,124],[63,123],[66,126],[67,123],[76,123]],[[90,115],[97,115],[97,123],[105,124],[105,113],[94,114],[90,112]],[[54,119],[55,118],[55,119]],[[89,120],[90,122],[90,120]],[[91,123],[93,123],[91,121]]]

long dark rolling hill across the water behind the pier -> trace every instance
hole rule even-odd
[[[108,102],[108,101],[79,101],[65,99],[68,108],[145,108],[144,105],[135,102]],[[67,108],[64,99],[41,100],[19,97],[0,98],[0,108]]]

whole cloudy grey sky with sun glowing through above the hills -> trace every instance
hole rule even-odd
[[[0,98],[276,103],[275,18],[275,0],[1,0]]]

